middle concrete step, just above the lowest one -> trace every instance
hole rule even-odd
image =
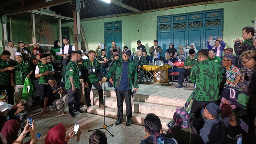
[[[94,104],[99,105],[99,98],[94,98]],[[124,104],[124,110],[126,110],[126,104]],[[106,106],[109,108],[115,108],[117,112],[117,101],[116,98],[106,98]],[[163,104],[149,103],[149,102],[136,102],[132,101],[132,112],[138,112],[142,114],[154,113],[157,116],[164,118],[172,118],[177,106],[169,106]]]

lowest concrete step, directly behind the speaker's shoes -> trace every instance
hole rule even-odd
[[[99,108],[98,105],[92,105],[92,106],[88,107],[87,112],[104,116],[104,109]],[[123,118],[124,121],[126,121],[125,114],[126,114],[126,110],[124,110],[124,118]],[[144,118],[146,116],[147,116],[147,114],[132,112],[132,123],[144,125]],[[116,108],[106,108],[106,117],[117,119],[117,109]],[[168,126],[166,126],[166,124],[168,122],[170,122],[171,118],[164,118],[161,116],[158,116],[158,117],[161,120],[163,130],[168,130]]]

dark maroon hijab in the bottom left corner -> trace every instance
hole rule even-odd
[[[21,124],[18,120],[8,120],[4,123],[1,133],[7,140],[7,144],[12,144],[18,138]]]

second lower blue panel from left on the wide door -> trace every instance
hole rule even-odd
[[[170,43],[174,44],[174,48],[179,49],[180,44],[184,46],[186,40],[186,30],[175,30],[172,32],[172,40]]]

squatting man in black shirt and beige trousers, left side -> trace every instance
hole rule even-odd
[[[56,82],[55,78],[49,78],[48,83],[50,86],[46,90],[46,95],[44,98],[44,110],[46,112],[47,102],[50,99],[52,104],[56,106],[57,110],[60,110],[60,114],[65,114],[64,110],[68,104],[67,90],[63,82]]]

